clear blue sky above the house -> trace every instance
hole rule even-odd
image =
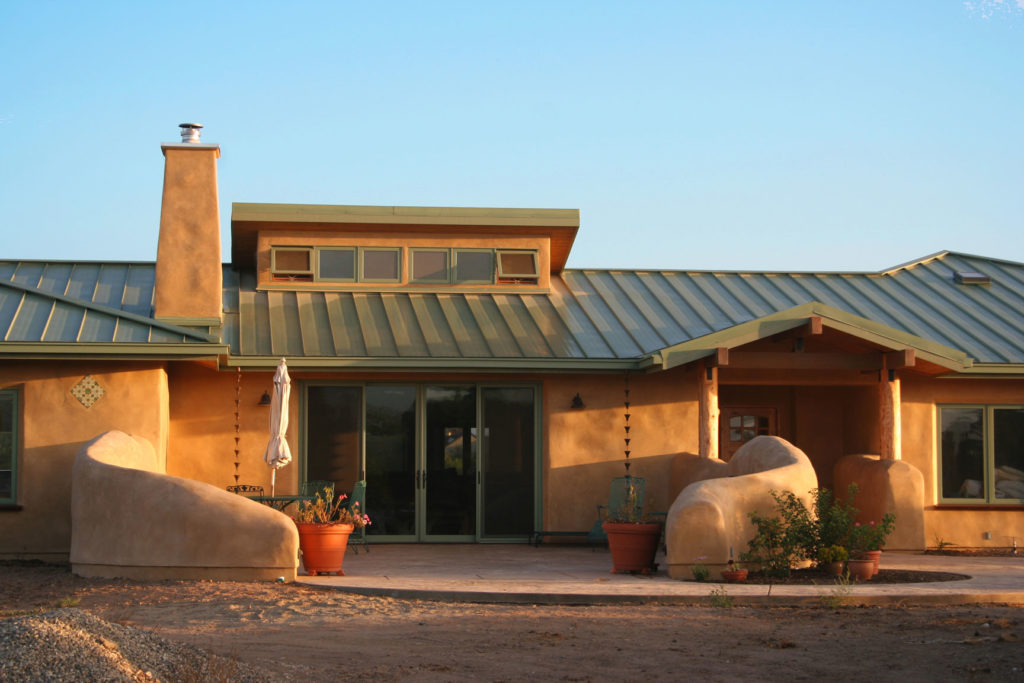
[[[0,3],[0,258],[231,202],[579,208],[571,267],[1024,261],[1024,0]]]

